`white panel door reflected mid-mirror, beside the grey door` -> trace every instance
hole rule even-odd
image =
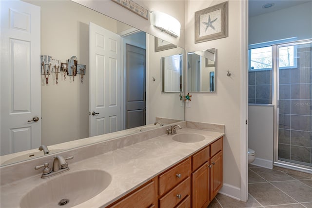
[[[121,130],[119,35],[90,22],[90,136]]]

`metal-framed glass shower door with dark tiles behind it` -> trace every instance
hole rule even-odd
[[[277,46],[278,162],[312,166],[312,43]]]

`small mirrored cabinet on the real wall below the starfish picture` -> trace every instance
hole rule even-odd
[[[187,54],[189,92],[215,92],[215,48]]]

